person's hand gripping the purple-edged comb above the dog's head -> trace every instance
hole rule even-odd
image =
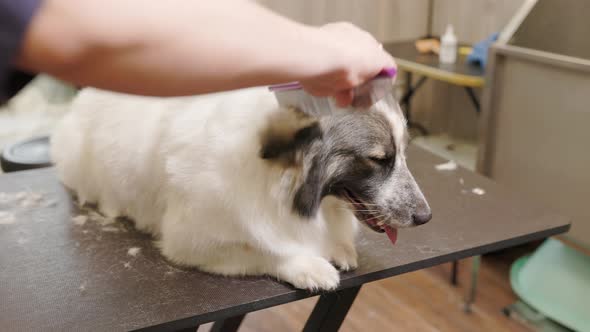
[[[371,34],[350,23],[327,24],[318,28],[318,33],[323,40],[318,60],[326,61],[326,70],[301,81],[303,89],[314,96],[333,97],[338,106],[349,106],[354,87],[384,68],[397,67]]]

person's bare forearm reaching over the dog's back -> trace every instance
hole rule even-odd
[[[345,57],[319,30],[247,1],[47,0],[19,63],[149,95],[346,75]]]

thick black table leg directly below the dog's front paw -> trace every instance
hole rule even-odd
[[[321,295],[303,332],[337,332],[360,289],[358,286]]]

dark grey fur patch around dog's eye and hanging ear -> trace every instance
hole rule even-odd
[[[359,111],[325,117],[320,124],[321,140],[304,149],[305,180],[293,202],[294,210],[304,217],[317,213],[323,197],[341,195],[345,189],[363,198],[372,195],[395,164],[392,130],[381,113]]]

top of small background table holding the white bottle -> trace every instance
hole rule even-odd
[[[416,63],[433,69],[451,72],[453,74],[466,75],[483,78],[484,69],[480,66],[468,63],[466,57],[457,56],[457,61],[452,64],[443,64],[438,60],[436,54],[421,54],[416,50],[414,40],[400,41],[383,44],[383,48],[392,54],[396,60],[405,60],[410,63]]]

